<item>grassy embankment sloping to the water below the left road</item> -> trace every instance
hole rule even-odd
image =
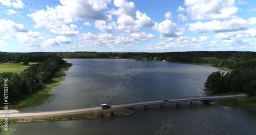
[[[88,118],[104,118],[104,117],[116,117],[126,116],[135,113],[134,110],[129,108],[116,108],[116,109],[103,109],[97,111],[90,111],[85,113],[68,114],[68,115],[57,115],[47,117],[36,117],[36,118],[20,118],[20,119],[8,119],[10,124],[18,122],[32,122],[32,121],[50,121],[50,120],[73,120],[73,119],[88,119]],[[3,123],[4,120],[0,120]]]

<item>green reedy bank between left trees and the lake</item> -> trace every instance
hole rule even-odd
[[[51,80],[45,84],[39,91],[34,92],[32,95],[25,97],[24,100],[9,104],[10,109],[19,109],[22,107],[36,106],[50,101],[53,96],[51,91],[54,87],[61,84],[66,76],[66,71],[71,65],[68,63],[60,65],[60,68],[53,74]]]

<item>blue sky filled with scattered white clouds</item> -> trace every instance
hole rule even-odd
[[[0,0],[2,52],[256,51],[254,0]]]

